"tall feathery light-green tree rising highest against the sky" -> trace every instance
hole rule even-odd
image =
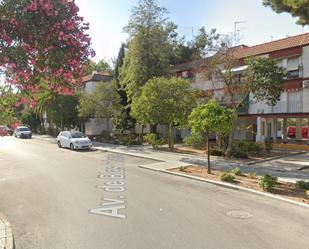
[[[151,78],[166,76],[170,71],[170,44],[165,8],[155,0],[141,0],[132,9],[125,30],[130,34],[128,51],[121,69],[120,82],[129,101],[140,94]]]

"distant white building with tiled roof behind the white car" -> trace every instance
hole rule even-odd
[[[105,72],[96,72],[87,75],[83,78],[85,84],[85,92],[91,94],[94,92],[98,84],[108,84],[113,77]],[[102,135],[104,132],[111,132],[112,122],[107,118],[90,118],[82,125],[82,130],[88,136]]]

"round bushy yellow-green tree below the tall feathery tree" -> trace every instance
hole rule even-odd
[[[184,79],[153,78],[132,102],[132,116],[140,124],[162,124],[168,129],[170,150],[174,149],[173,128],[184,127],[196,105],[196,92]]]

